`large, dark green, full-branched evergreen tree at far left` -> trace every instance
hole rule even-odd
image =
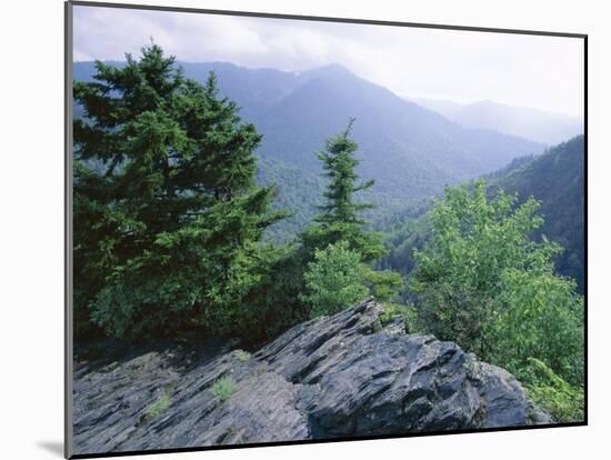
[[[127,338],[248,322],[239,308],[274,254],[260,240],[282,218],[254,182],[261,136],[213,73],[186,79],[156,44],[97,62],[94,79],[73,94],[77,333],[91,319]]]

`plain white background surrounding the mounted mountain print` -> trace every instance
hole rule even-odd
[[[589,34],[588,428],[148,456],[172,459],[609,458],[611,14],[584,0],[199,0],[156,4]],[[133,2],[138,2],[133,0]],[[57,459],[63,436],[63,4],[0,14],[0,458]],[[449,76],[451,78],[451,76]]]

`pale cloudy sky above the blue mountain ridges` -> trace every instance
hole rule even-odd
[[[137,57],[301,71],[340,63],[398,96],[583,114],[583,40],[76,6],[74,61]]]

